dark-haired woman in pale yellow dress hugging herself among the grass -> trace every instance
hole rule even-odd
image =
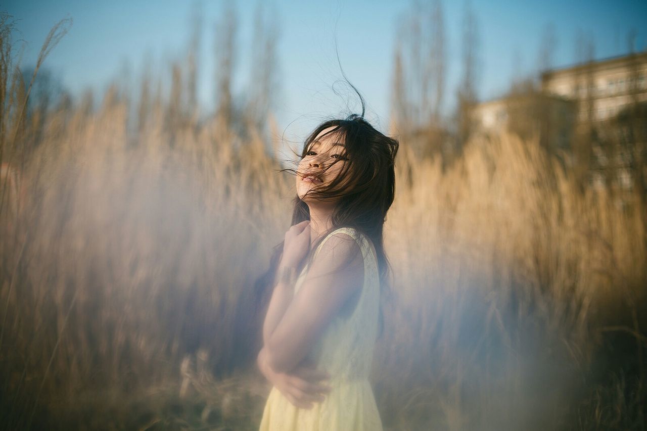
[[[258,366],[274,387],[261,430],[382,429],[368,375],[397,149],[358,115],[324,122],[305,141],[293,226],[270,265]]]

